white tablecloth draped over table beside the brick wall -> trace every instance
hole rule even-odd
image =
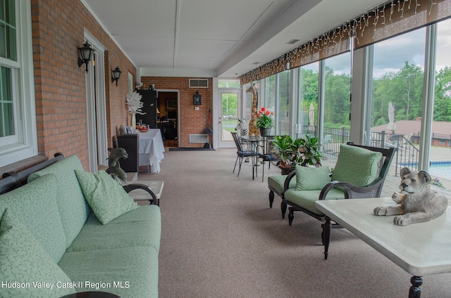
[[[137,131],[140,138],[140,166],[150,165],[154,173],[159,173],[160,162],[164,158],[163,138],[161,138],[160,129],[149,129],[147,132]]]

